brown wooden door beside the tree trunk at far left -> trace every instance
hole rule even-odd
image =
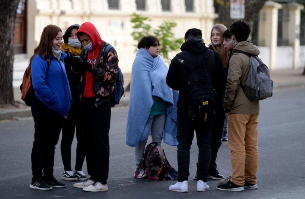
[[[27,47],[27,2],[20,0],[15,22],[14,53],[26,53]]]

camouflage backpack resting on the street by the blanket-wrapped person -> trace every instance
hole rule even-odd
[[[144,157],[135,171],[135,178],[138,177],[141,169],[144,170],[142,179],[162,181],[177,180],[178,178],[178,172],[170,166],[163,148],[158,146],[156,142],[147,145]]]

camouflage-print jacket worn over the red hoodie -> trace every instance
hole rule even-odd
[[[94,75],[92,91],[93,97],[95,99],[95,106],[98,106],[109,100],[109,96],[114,94],[114,82],[118,75],[118,63],[119,59],[117,57],[117,51],[114,48],[109,49],[107,55],[104,55],[104,50],[106,46],[109,45],[106,42],[102,42],[101,54],[99,59],[99,64],[95,64],[95,68],[91,72]],[[81,52],[81,57],[87,60],[87,51],[85,49]],[[97,58],[98,59],[98,58]],[[81,95],[82,99],[84,92],[84,74],[81,75]]]

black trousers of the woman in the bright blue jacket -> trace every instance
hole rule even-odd
[[[54,152],[63,124],[63,116],[47,107],[37,97],[32,102],[32,115],[34,117],[34,143],[32,149],[33,180],[39,179],[43,174],[47,178],[53,176]]]

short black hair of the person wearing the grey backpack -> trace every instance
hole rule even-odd
[[[230,25],[230,33],[235,36],[237,42],[247,41],[251,32],[249,23],[243,20],[236,20]]]

